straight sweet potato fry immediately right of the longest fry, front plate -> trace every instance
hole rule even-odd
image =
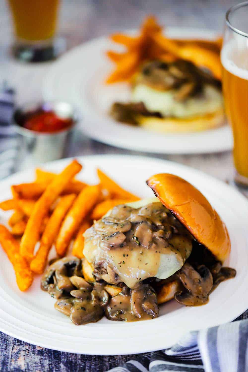
[[[61,222],[64,219],[68,209],[74,202],[75,197],[75,194],[63,196],[54,209],[42,234],[39,249],[33,260],[30,262],[30,269],[33,272],[37,274],[43,273],[46,266],[49,250],[51,249],[51,246],[54,243],[55,238],[57,237]]]

